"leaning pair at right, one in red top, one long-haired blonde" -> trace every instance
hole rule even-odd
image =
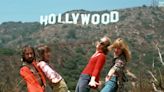
[[[111,50],[114,50],[114,57],[101,92],[123,92],[123,82],[127,81],[125,67],[131,58],[131,52],[122,38],[117,38],[111,44],[110,38],[106,36],[97,42],[96,52],[82,71],[75,92],[90,92],[91,88],[101,85],[100,72],[105,64],[106,55]]]

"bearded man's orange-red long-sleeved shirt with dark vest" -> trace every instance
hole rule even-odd
[[[20,69],[20,75],[27,84],[28,92],[44,92],[45,78],[41,70],[36,68],[35,61],[31,65],[24,65]]]

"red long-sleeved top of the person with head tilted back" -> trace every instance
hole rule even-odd
[[[99,82],[100,72],[105,64],[106,55],[102,51],[98,51],[92,55],[87,66],[82,71],[82,74],[94,76],[96,81]]]

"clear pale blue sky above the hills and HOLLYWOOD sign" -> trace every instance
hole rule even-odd
[[[152,0],[3,0],[0,3],[0,23],[7,21],[34,22],[41,15],[69,10],[89,11],[149,6]]]

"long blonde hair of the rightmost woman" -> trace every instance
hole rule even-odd
[[[108,47],[109,50],[113,48],[120,48],[122,50],[122,53],[125,55],[125,58],[128,61],[131,59],[131,52],[129,50],[128,45],[125,43],[125,41],[122,38],[117,38],[111,46]]]

